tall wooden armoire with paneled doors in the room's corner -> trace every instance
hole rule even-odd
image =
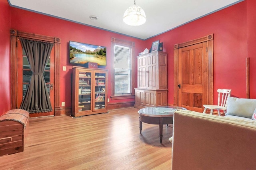
[[[154,51],[137,57],[136,108],[167,106],[167,53]]]

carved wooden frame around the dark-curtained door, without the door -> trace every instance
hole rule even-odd
[[[18,99],[18,77],[17,77],[17,41],[18,37],[29,38],[34,40],[42,40],[54,43],[54,115],[60,115],[60,44],[61,40],[58,37],[42,36],[39,34],[20,32],[14,29],[10,30],[10,98],[11,109],[17,109]]]

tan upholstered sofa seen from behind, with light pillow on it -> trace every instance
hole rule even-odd
[[[246,101],[252,103],[246,105]],[[174,113],[172,170],[256,169],[256,121],[252,120],[256,99],[228,102],[226,116],[188,110]]]

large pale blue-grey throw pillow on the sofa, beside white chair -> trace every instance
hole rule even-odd
[[[251,119],[255,108],[256,108],[256,99],[229,97],[227,101],[226,115],[247,117]]]

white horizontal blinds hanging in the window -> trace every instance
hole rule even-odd
[[[132,49],[121,45],[114,46],[115,95],[131,94]]]

